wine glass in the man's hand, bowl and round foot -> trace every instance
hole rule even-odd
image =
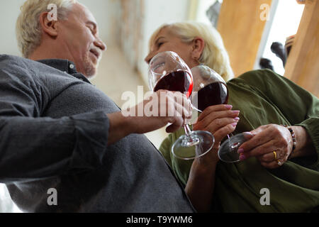
[[[191,70],[184,60],[172,51],[159,52],[152,57],[149,81],[154,92],[164,89],[184,93],[189,98],[193,91]],[[187,124],[184,125],[184,131],[185,135],[181,135],[172,146],[174,156],[191,160],[205,155],[213,148],[215,138],[208,131],[191,131]]]

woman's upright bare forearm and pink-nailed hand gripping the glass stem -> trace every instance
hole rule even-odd
[[[209,211],[211,207],[220,141],[235,130],[239,121],[239,111],[232,111],[232,108],[230,105],[209,106],[193,126],[194,131],[209,131],[215,137],[213,149],[194,160],[185,187],[186,194],[198,212]]]

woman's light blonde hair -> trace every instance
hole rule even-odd
[[[205,41],[205,47],[198,59],[199,63],[207,65],[220,74],[225,81],[234,77],[233,70],[230,67],[228,52],[225,50],[223,39],[213,26],[195,21],[164,23],[152,34],[150,46],[154,43],[157,34],[163,28],[169,28],[169,32],[185,43],[190,43],[194,38],[201,37]]]

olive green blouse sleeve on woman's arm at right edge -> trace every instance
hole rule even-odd
[[[291,126],[303,126],[310,135],[317,153],[311,167],[319,169],[319,99],[291,80],[272,70],[255,70],[242,74],[244,79],[264,99],[274,104]]]

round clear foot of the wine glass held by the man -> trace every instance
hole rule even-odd
[[[189,135],[181,135],[172,146],[172,154],[183,160],[192,160],[208,153],[215,138],[208,131],[191,131]]]

